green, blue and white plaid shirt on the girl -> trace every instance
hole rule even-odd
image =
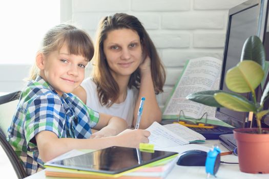
[[[58,138],[90,138],[99,114],[72,94],[57,95],[41,77],[31,80],[22,91],[8,130],[9,143],[22,160],[28,175],[44,169],[35,135],[48,130]]]

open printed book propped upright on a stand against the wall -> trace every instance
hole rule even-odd
[[[195,92],[218,89],[221,64],[221,60],[213,57],[188,60],[163,108],[162,119],[179,119],[231,127],[215,118],[215,107],[199,104],[185,98]],[[204,115],[205,113],[207,116]],[[202,119],[200,119],[201,117]]]

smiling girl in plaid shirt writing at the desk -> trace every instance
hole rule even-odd
[[[84,79],[94,52],[84,31],[58,25],[48,31],[42,45],[8,131],[9,143],[28,175],[72,149],[138,147],[149,142],[149,131],[121,132],[127,128],[125,120],[99,114],[71,94]],[[92,127],[99,130],[94,135]]]

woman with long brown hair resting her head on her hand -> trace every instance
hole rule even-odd
[[[162,91],[165,72],[156,48],[140,21],[116,13],[100,21],[92,78],[73,92],[94,110],[125,119],[135,126],[145,97],[140,128],[161,121],[155,94]]]

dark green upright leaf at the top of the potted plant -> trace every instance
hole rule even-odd
[[[266,60],[265,51],[259,37],[250,36],[245,40],[241,54],[241,61],[243,60],[256,61],[262,66],[262,69],[264,69]]]

